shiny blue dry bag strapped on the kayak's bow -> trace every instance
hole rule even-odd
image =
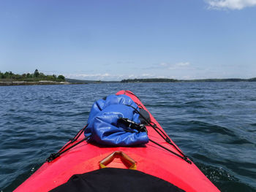
[[[139,111],[138,105],[126,95],[110,95],[106,99],[94,102],[85,130],[85,136],[89,137],[89,142],[112,146],[147,143],[146,132],[140,132],[120,122],[121,118],[127,118],[140,124],[140,115],[133,107]]]

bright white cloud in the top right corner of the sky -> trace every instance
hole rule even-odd
[[[244,9],[256,5],[256,0],[208,0],[212,9]]]

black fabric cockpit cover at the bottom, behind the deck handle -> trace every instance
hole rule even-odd
[[[183,191],[165,180],[150,174],[118,168],[98,169],[84,174],[74,174],[67,183],[51,192],[179,192]]]

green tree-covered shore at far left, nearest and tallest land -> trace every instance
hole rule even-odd
[[[1,81],[40,81],[40,80],[47,80],[47,81],[65,81],[65,77],[63,75],[59,75],[58,77],[56,74],[53,75],[45,75],[42,72],[39,72],[37,69],[34,73],[24,73],[24,74],[14,74],[12,72],[0,72],[0,80]]]

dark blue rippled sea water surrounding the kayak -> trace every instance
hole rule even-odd
[[[256,191],[256,83],[0,87],[0,191],[13,191],[86,125],[96,99],[134,92],[221,191]]]

